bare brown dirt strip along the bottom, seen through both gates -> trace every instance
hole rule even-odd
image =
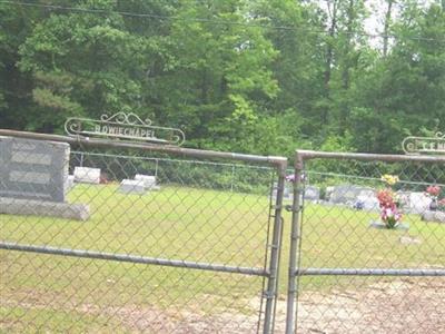
[[[256,333],[259,298],[246,301],[253,313],[235,310],[204,313],[199,305],[171,305],[160,310],[147,305],[98,306],[93,304],[47,303],[44,296],[21,298],[9,296],[1,306],[29,310],[61,307],[93,317],[109,318],[120,324],[117,332],[129,333]],[[215,310],[214,310],[215,311]],[[277,304],[276,333],[285,332],[286,301]],[[11,328],[11,320],[0,320]],[[0,326],[1,327],[1,326]],[[298,304],[298,333],[445,333],[445,279],[387,279],[372,283],[360,289],[342,289],[322,294],[306,292]]]

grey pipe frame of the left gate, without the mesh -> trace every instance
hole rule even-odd
[[[221,158],[221,159],[238,160],[244,163],[268,164],[273,166],[278,175],[278,184],[277,184],[277,195],[275,199],[275,205],[270,207],[270,210],[273,210],[274,214],[269,216],[269,218],[274,217],[274,224],[271,232],[271,240],[269,240],[269,243],[266,245],[267,248],[265,250],[266,252],[265,257],[266,261],[268,259],[268,263],[265,264],[264,269],[255,267],[236,267],[236,266],[219,265],[219,264],[162,259],[162,258],[134,256],[125,254],[109,254],[109,253],[83,250],[83,249],[66,249],[66,248],[57,248],[49,246],[21,245],[16,243],[2,243],[2,242],[0,242],[0,249],[52,254],[62,256],[75,256],[75,257],[87,257],[87,258],[100,258],[108,261],[142,263],[150,265],[162,265],[172,267],[184,267],[190,269],[216,271],[216,272],[261,276],[265,279],[267,279],[267,287],[266,289],[263,291],[263,298],[266,299],[263,333],[269,334],[274,332],[276,303],[278,297],[278,274],[279,274],[279,259],[280,259],[281,239],[283,239],[283,218],[281,218],[283,197],[285,190],[287,158],[279,156],[257,156],[257,155],[224,153],[215,150],[191,149],[191,148],[182,148],[169,145],[162,146],[148,143],[117,141],[109,139],[90,139],[80,136],[68,137],[68,136],[37,134],[28,131],[8,130],[8,129],[0,129],[0,136],[36,139],[36,140],[59,141],[79,147],[138,149],[142,151],[156,151],[156,153],[172,154],[177,156],[187,156],[195,158]],[[270,250],[268,248],[270,248]],[[261,308],[263,306],[260,306],[258,311],[259,316],[263,313]],[[259,322],[258,325],[260,325]],[[259,331],[259,328],[260,327],[258,326],[257,331]]]

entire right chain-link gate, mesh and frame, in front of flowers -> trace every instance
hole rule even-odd
[[[445,333],[444,188],[445,158],[298,150],[286,333]]]

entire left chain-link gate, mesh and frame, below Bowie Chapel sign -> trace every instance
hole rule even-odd
[[[0,331],[273,333],[287,159],[0,136],[28,148],[32,140],[69,144],[58,171],[79,178],[59,185],[63,203],[1,204]],[[47,166],[39,159],[30,148],[3,155],[2,168]],[[44,168],[27,168],[16,190],[27,180],[37,194],[29,184]]]

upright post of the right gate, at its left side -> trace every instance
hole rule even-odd
[[[289,273],[287,287],[287,310],[286,310],[286,334],[291,334],[295,331],[295,299],[297,295],[297,252],[299,242],[299,213],[300,213],[300,195],[301,195],[301,171],[303,158],[297,154],[295,159],[295,177],[294,177],[294,203],[293,218],[290,230],[290,250],[289,250]]]

